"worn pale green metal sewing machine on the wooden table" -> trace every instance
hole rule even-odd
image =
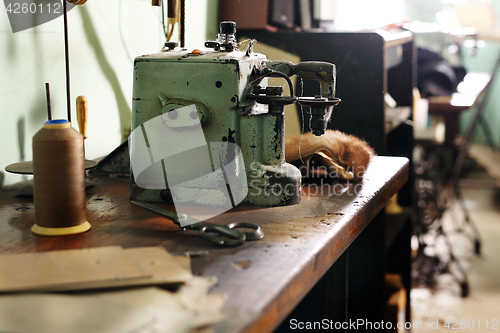
[[[222,22],[207,49],[166,43],[163,52],[136,58],[132,200],[174,203],[178,212],[202,211],[203,218],[239,203],[300,201],[301,174],[284,160],[284,105],[311,107],[312,131],[323,134],[340,102],[335,65],[270,61],[252,52],[253,43],[238,50],[235,32],[234,22]],[[320,94],[294,96],[292,75],[319,81]],[[282,87],[266,86],[267,77],[286,80],[290,96],[283,96]]]

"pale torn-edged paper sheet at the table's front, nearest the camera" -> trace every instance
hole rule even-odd
[[[213,278],[193,277],[177,293],[155,287],[85,295],[0,296],[1,332],[189,332],[225,319]]]

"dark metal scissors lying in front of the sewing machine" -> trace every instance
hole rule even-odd
[[[172,222],[177,224],[179,227],[180,227],[180,220],[187,219],[186,214],[175,214],[169,210],[156,207],[145,202],[139,202],[133,200],[131,200],[131,202],[139,207],[149,210],[150,212],[153,212],[169,220],[172,220]],[[238,228],[253,229],[253,231],[242,232],[236,230]],[[216,245],[225,247],[240,246],[245,241],[259,240],[264,237],[264,231],[262,231],[262,229],[258,225],[248,222],[234,222],[234,223],[229,223],[227,225],[218,225],[208,222],[197,222],[185,226],[184,229],[198,230],[198,235],[200,237],[205,238],[206,240]],[[209,232],[216,233],[218,234],[218,236],[211,235],[209,234]],[[227,238],[223,238],[221,236]]]

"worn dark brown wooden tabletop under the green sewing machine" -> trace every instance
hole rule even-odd
[[[209,222],[258,224],[264,239],[218,248],[194,231],[181,231],[129,201],[128,178],[91,178],[84,234],[42,237],[31,233],[33,198],[17,195],[30,182],[0,191],[0,253],[120,245],[162,246],[170,252],[208,250],[192,258],[195,275],[215,275],[212,292],[228,295],[230,320],[218,332],[270,332],[307,294],[408,179],[402,157],[375,157],[362,183],[304,186],[302,202],[286,207],[238,207]]]

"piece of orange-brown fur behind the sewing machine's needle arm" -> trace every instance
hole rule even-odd
[[[321,136],[305,133],[286,137],[287,162],[304,161],[309,167],[313,155],[329,169],[329,173],[341,179],[360,181],[375,152],[363,140],[335,130],[326,130]]]

